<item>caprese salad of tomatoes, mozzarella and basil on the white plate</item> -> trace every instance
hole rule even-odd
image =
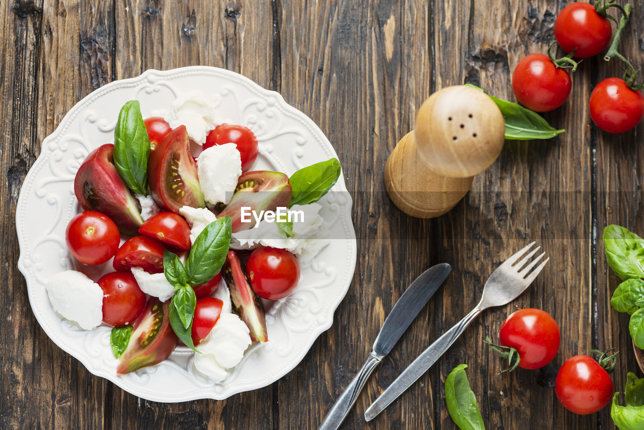
[[[74,191],[83,211],[66,243],[81,266],[111,260],[113,271],[96,280],[63,271],[46,290],[81,329],[113,327],[117,373],[158,364],[182,342],[220,382],[252,342],[269,340],[262,299],[289,295],[300,264],[328,243],[317,200],[340,164],[290,177],[251,170],[258,148],[249,128],[218,122],[209,99],[192,93],[165,117],[144,119],[128,101],[114,143],[82,162]]]

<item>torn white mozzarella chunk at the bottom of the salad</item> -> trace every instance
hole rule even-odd
[[[234,313],[222,313],[209,335],[197,346],[201,354],[194,353],[194,367],[214,382],[220,382],[228,369],[242,361],[250,344],[246,324]]]

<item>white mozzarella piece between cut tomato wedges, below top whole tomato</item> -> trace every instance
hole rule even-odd
[[[242,155],[234,143],[211,146],[197,160],[199,184],[205,201],[228,204],[242,175]]]

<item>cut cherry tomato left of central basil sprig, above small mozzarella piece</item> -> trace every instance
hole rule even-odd
[[[161,242],[151,237],[131,237],[118,248],[114,256],[114,269],[129,271],[130,268],[142,268],[147,273],[161,273],[165,250]]]

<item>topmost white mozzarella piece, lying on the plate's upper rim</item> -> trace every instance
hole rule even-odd
[[[217,121],[214,104],[204,92],[180,95],[170,105],[165,117],[171,128],[184,125],[188,136],[202,145],[208,133],[221,121]]]

